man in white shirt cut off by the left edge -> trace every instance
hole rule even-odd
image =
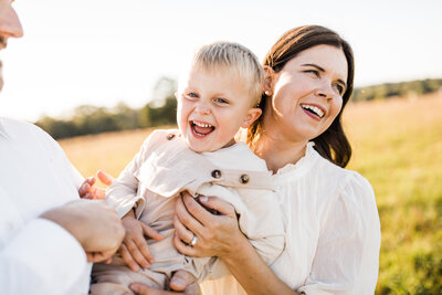
[[[0,0],[0,50],[22,35],[11,2]],[[104,202],[80,200],[82,181],[46,133],[0,118],[0,294],[87,294],[91,262],[124,229]]]

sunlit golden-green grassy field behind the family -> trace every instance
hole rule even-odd
[[[373,186],[382,226],[376,294],[442,294],[442,94],[349,105],[349,169]],[[84,176],[114,176],[150,130],[62,140]]]

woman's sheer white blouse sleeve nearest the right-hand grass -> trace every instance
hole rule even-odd
[[[325,219],[302,294],[373,294],[380,221],[370,183],[352,172]]]

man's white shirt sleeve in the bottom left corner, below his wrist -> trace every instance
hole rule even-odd
[[[86,267],[83,247],[67,231],[33,219],[0,249],[0,294],[65,294]]]

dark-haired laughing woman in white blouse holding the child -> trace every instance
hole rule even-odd
[[[204,295],[373,294],[376,200],[365,178],[343,169],[351,155],[340,123],[352,92],[351,49],[326,28],[296,28],[272,46],[264,66],[263,116],[248,143],[274,172],[284,252],[267,266],[239,231],[233,208],[215,197],[200,201],[221,215],[190,196],[177,202],[175,244],[186,255],[219,256],[234,276],[204,282]]]

